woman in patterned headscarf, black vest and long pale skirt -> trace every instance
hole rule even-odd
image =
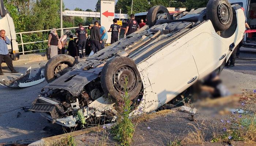
[[[57,30],[56,28],[52,28],[52,31],[50,32],[48,37],[48,47],[51,49],[50,58],[58,55],[58,40],[59,36],[57,34]]]

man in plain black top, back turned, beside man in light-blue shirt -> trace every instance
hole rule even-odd
[[[91,28],[91,47],[93,52],[101,50],[101,32],[99,31],[99,23],[98,21],[94,22],[94,26]]]

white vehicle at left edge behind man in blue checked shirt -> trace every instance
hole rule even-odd
[[[15,26],[13,19],[4,7],[3,0],[0,0],[0,30],[5,30],[5,35],[10,39],[11,44],[8,45],[9,53],[13,60],[19,59],[18,42],[16,42]]]

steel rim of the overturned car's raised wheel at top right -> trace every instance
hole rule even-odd
[[[230,9],[229,6],[226,4],[219,4],[218,6],[218,18],[219,21],[226,25],[229,23],[230,20]]]

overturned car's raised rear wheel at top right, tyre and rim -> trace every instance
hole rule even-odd
[[[232,7],[227,0],[209,0],[206,7],[206,17],[211,20],[215,31],[224,31],[231,26]]]

